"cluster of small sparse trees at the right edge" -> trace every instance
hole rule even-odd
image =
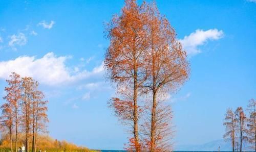
[[[226,133],[224,139],[231,141],[232,151],[242,151],[243,144],[249,142],[256,151],[256,100],[250,99],[246,111],[238,107],[235,111],[227,109],[225,114]]]

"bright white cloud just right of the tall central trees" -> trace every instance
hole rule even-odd
[[[189,36],[185,36],[180,42],[186,50],[188,56],[193,56],[201,53],[198,46],[205,44],[208,40],[218,40],[223,37],[223,31],[218,29],[210,29],[207,31],[196,30]]]

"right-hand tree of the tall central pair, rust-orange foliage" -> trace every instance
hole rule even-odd
[[[174,28],[161,16],[156,4],[145,7],[147,12],[148,48],[145,56],[147,81],[144,87],[152,94],[151,148],[156,150],[157,96],[162,90],[176,91],[188,78],[189,64]]]

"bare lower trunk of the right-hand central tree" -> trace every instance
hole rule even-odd
[[[152,113],[151,113],[151,147],[150,151],[154,152],[156,143],[155,143],[155,136],[156,136],[156,95],[157,92],[154,90],[153,91],[153,107],[152,107]]]

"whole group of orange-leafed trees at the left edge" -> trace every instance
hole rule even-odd
[[[29,151],[29,142],[32,142],[31,149],[34,152],[37,135],[47,133],[48,101],[38,89],[39,83],[31,77],[20,78],[19,74],[13,72],[6,82],[8,86],[5,87],[5,103],[1,106],[0,117],[2,136],[9,136],[11,151],[15,135],[15,151],[18,151],[18,143],[22,140],[25,142],[25,151]],[[19,139],[19,134],[23,134],[25,140]]]

